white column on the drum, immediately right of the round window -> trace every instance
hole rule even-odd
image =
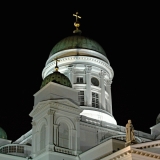
[[[100,76],[100,85],[101,85],[101,109],[106,110],[105,102],[105,88],[104,88],[104,72],[101,70]]]

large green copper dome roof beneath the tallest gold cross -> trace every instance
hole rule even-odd
[[[81,35],[73,35],[58,42],[51,50],[49,57],[59,51],[75,48],[90,49],[106,56],[105,51],[96,41]]]

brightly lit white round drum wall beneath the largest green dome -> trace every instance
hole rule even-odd
[[[85,51],[88,55],[89,50]],[[59,53],[58,53],[59,54]],[[99,56],[100,53],[96,53]],[[53,57],[52,57],[53,58]],[[48,59],[46,67],[43,69],[42,76],[45,78],[47,75],[54,71],[55,62]],[[107,63],[107,60],[103,58],[101,60],[95,57],[89,56],[70,56],[60,58],[58,62],[59,71],[65,74],[71,81],[72,87],[79,91],[84,91],[84,107],[90,107],[91,110],[99,112],[95,114],[90,112],[89,114],[82,113],[82,115],[89,116],[90,118],[103,120],[109,123],[117,124],[112,117],[112,97],[111,97],[111,83],[113,78],[113,70]],[[77,78],[83,78],[83,83],[78,83]],[[94,85],[91,82],[92,78],[98,80],[98,85]],[[92,105],[92,92],[98,95],[99,105],[98,108]],[[89,108],[87,108],[89,110]],[[105,114],[111,115],[111,118],[101,114],[101,111],[106,111]],[[110,120],[112,119],[112,120]]]

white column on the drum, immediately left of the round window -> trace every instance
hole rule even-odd
[[[86,101],[87,106],[92,106],[92,95],[91,95],[91,70],[92,66],[86,66]]]

